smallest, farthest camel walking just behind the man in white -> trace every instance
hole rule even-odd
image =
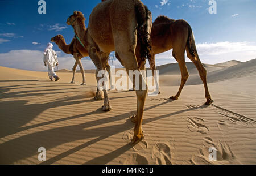
[[[73,39],[69,45],[66,44],[65,39],[62,35],[57,35],[55,37],[52,37],[51,41],[55,42],[64,53],[72,54],[76,60],[75,65],[72,68],[73,77],[72,77],[71,84],[75,84],[76,67],[77,67],[77,65],[79,65],[80,71],[82,74],[82,84],[81,85],[86,85],[86,79],[85,79],[85,75],[84,75],[84,67],[82,66],[81,59],[83,57],[89,56],[88,51],[80,44],[80,42],[79,42],[79,40],[77,40],[76,36],[73,37]],[[104,68],[106,68],[106,70],[109,72],[109,79],[111,79],[110,66],[109,66],[108,62],[106,62],[106,65]]]

